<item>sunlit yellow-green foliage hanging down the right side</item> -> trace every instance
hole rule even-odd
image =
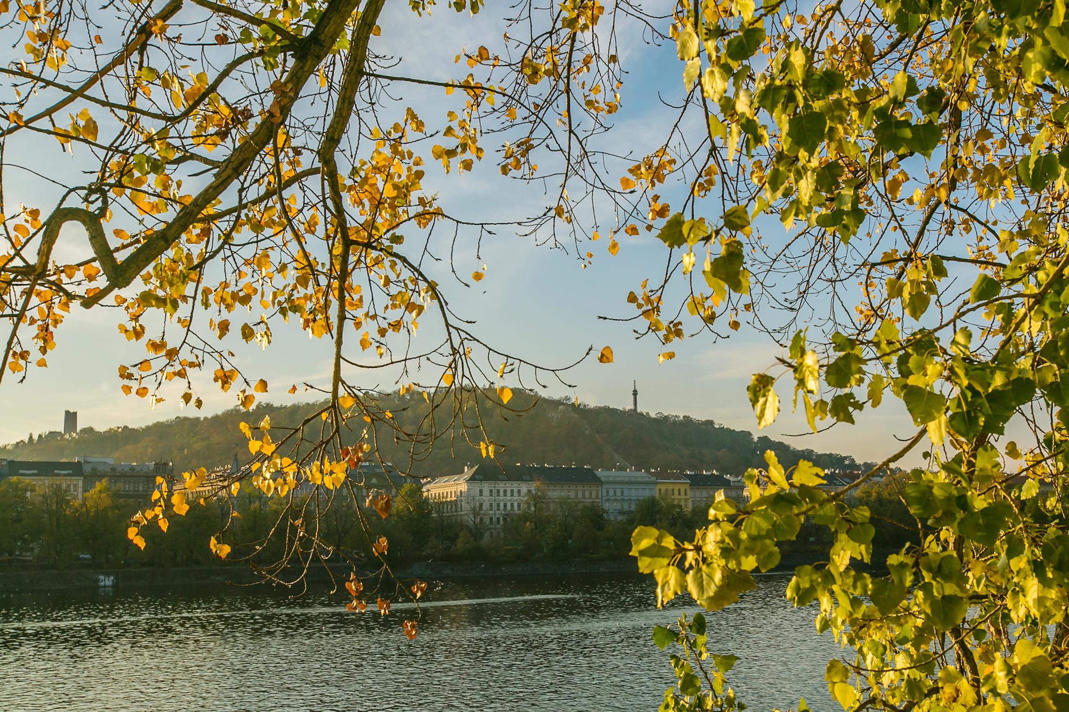
[[[666,315],[681,280],[679,313],[699,327],[726,315],[773,335],[783,356],[748,388],[759,428],[786,386],[815,432],[892,400],[917,430],[832,495],[816,487],[822,470],[770,452],[746,474],[746,506],[715,502],[693,540],[640,527],[633,553],[662,602],[686,591],[717,610],[804,523],[826,528],[830,560],[799,568],[787,597],[819,603],[817,631],[843,644],[826,681],[846,710],[1069,699],[1065,12],[1062,0],[676,6],[695,119],[622,179],[651,204],[670,276],[629,300],[666,344],[683,335]],[[649,195],[664,191],[652,168],[668,156],[691,188],[675,210]],[[914,449],[925,466],[884,494],[915,535],[874,562],[887,575],[859,572],[876,530],[853,491]],[[654,637],[683,646],[663,710],[734,708],[730,666],[706,661],[704,620]]]

